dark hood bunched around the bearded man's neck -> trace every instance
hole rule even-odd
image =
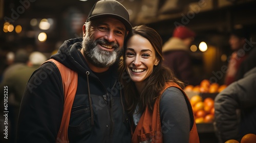
[[[51,58],[59,61],[63,65],[69,67],[70,69],[77,71],[80,74],[86,74],[89,71],[92,75],[93,71],[90,69],[86,60],[83,58],[82,53],[80,52],[82,48],[82,38],[69,39],[63,42],[59,47],[58,52],[55,55],[52,55]],[[110,67],[110,70],[113,68],[116,69],[118,64]],[[113,70],[115,71],[115,70]],[[95,76],[96,77],[96,76]]]

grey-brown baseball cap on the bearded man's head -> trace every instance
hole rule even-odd
[[[129,22],[129,13],[126,8],[119,2],[113,0],[96,2],[88,15],[87,21],[108,16],[120,20],[128,31],[132,30],[132,25]]]

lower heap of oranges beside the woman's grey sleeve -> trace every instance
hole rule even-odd
[[[196,124],[212,123],[214,121],[214,100],[212,98],[202,99],[201,96],[195,95],[190,98],[190,103],[195,115]]]

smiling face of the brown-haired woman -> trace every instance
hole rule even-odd
[[[136,86],[143,87],[145,79],[153,73],[154,65],[158,63],[159,59],[150,41],[140,35],[130,38],[125,51],[125,65],[127,65],[127,73]]]

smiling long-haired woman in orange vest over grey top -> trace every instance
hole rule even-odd
[[[160,35],[147,26],[134,27],[124,50],[120,81],[132,123],[132,142],[199,142],[191,105],[181,88],[184,85],[162,65]]]

